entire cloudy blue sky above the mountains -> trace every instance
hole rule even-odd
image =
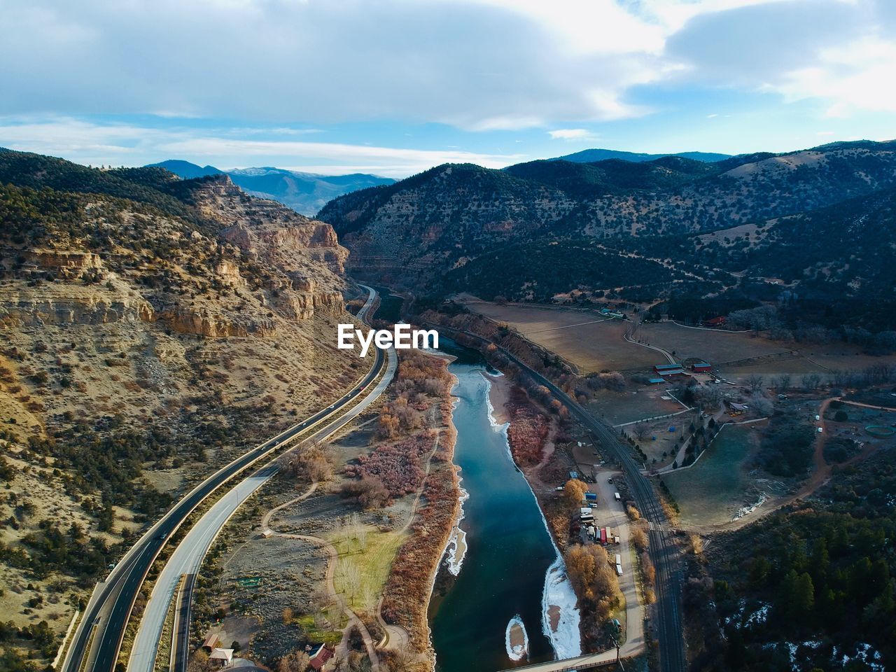
[[[0,0],[0,146],[406,177],[896,137],[893,0]]]

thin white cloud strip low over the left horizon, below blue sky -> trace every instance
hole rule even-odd
[[[503,168],[526,158],[522,154],[423,150],[375,144],[306,142],[290,139],[246,139],[259,129],[152,128],[131,124],[94,124],[74,118],[0,118],[0,145],[13,150],[64,155],[84,164],[143,165],[185,158],[214,162],[219,168],[295,166],[297,170],[339,174],[374,172],[406,177],[441,163],[477,163]],[[278,129],[265,133],[277,134]],[[288,131],[291,129],[288,129]]]

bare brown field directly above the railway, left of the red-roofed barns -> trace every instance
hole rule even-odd
[[[534,343],[556,352],[578,367],[595,371],[649,372],[666,359],[650,349],[623,340],[627,323],[578,310],[538,306],[497,306],[484,301],[466,304],[470,310],[505,322]]]

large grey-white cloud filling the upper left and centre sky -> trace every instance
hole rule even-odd
[[[673,73],[668,35],[719,3],[654,4],[0,0],[0,114],[478,131],[642,116],[629,91]]]

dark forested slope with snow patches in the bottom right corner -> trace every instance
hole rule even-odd
[[[894,489],[883,453],[836,475],[810,503],[714,539],[685,590],[702,633],[694,669],[889,669]]]

